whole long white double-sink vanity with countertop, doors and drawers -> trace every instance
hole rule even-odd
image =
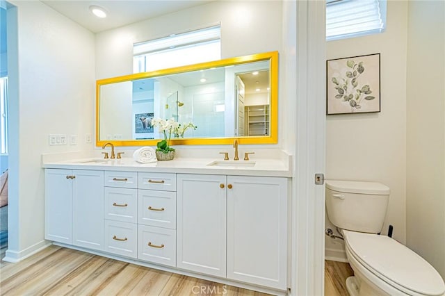
[[[44,163],[45,238],[150,268],[284,294],[290,156]]]

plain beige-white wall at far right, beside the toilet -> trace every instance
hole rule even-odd
[[[407,246],[445,279],[445,3],[408,17]]]

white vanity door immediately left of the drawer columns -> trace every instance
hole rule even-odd
[[[73,245],[104,249],[104,172],[73,170]]]

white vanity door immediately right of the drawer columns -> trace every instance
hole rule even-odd
[[[177,175],[178,268],[225,277],[225,183],[226,176]]]

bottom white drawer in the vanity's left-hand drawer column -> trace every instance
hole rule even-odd
[[[105,252],[137,258],[137,224],[105,220]]]

